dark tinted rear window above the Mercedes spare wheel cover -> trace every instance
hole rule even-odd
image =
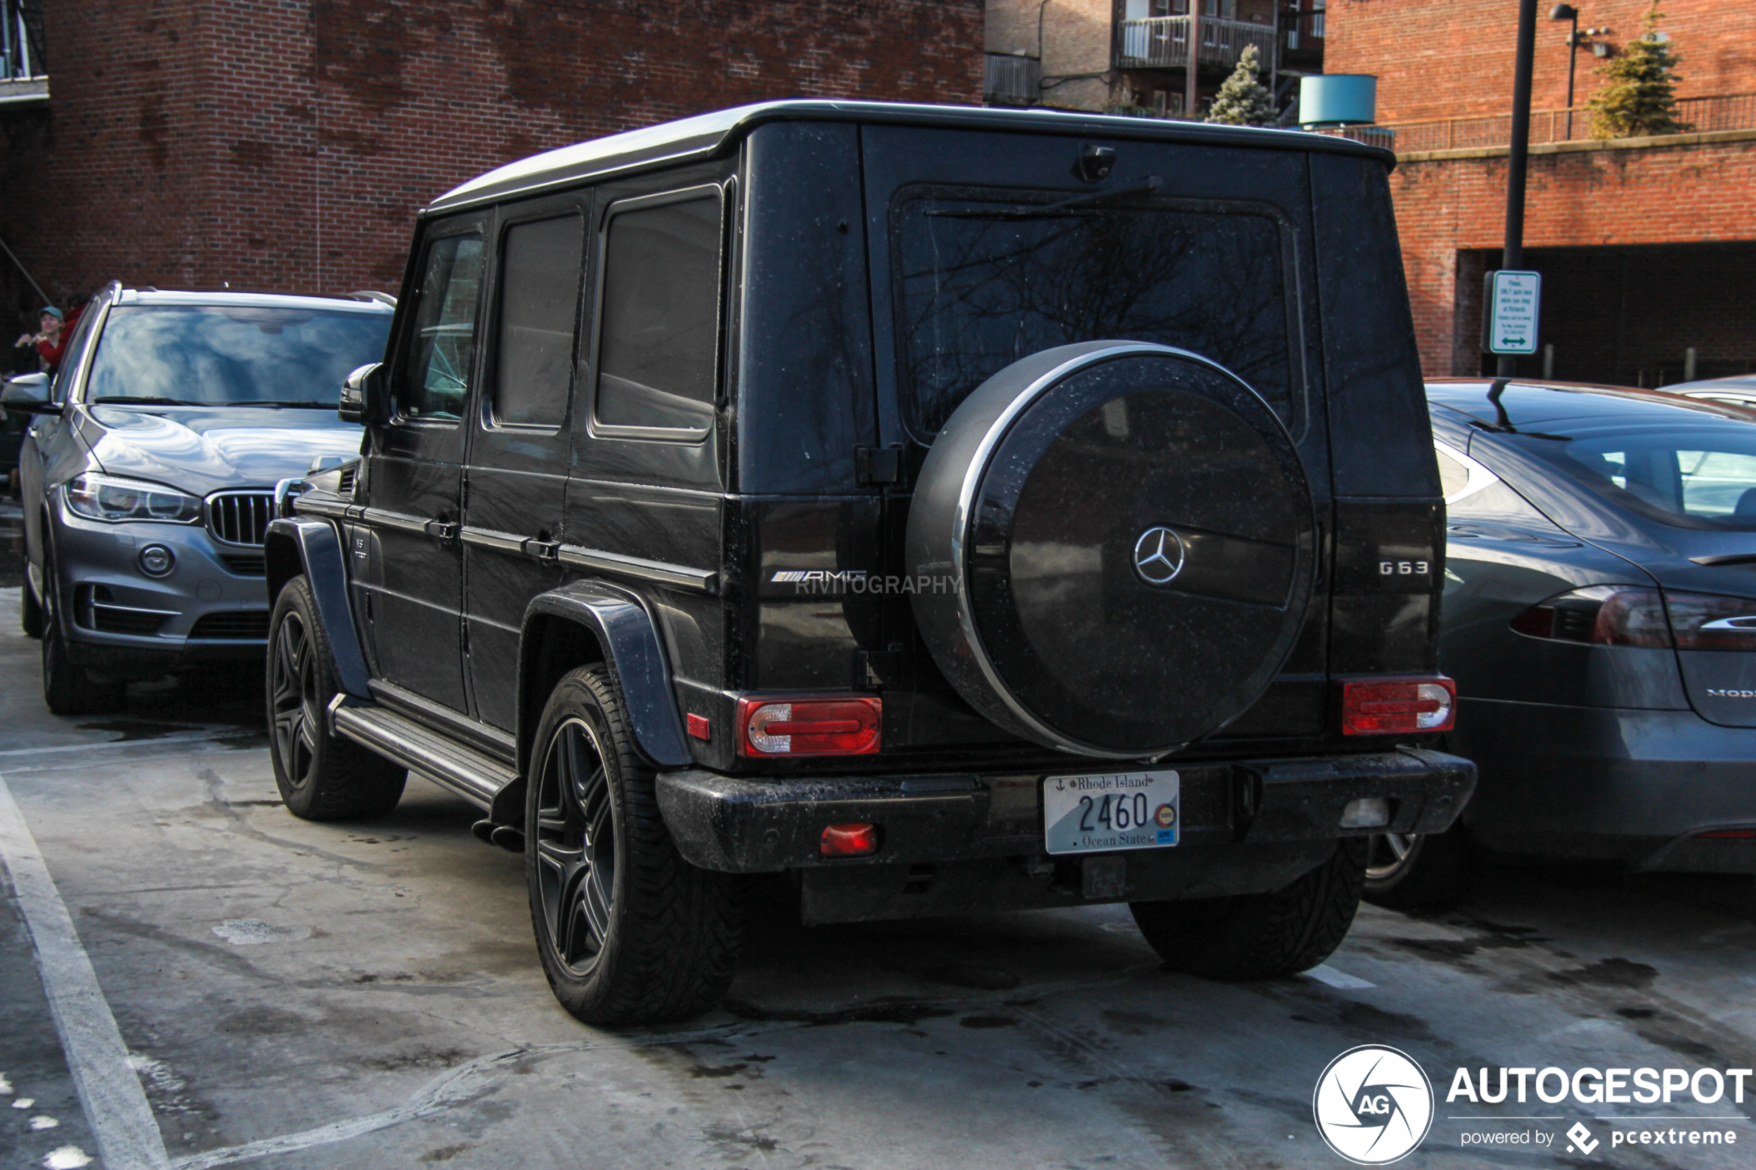
[[[1073,342],[1175,346],[1296,417],[1289,225],[1266,205],[904,188],[892,210],[910,430],[931,439],[989,375]],[[1040,210],[1038,210],[1040,209]]]

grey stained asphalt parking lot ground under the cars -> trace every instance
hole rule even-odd
[[[1256,984],[1161,970],[1120,907],[801,928],[778,900],[720,1010],[595,1030],[550,996],[522,860],[469,805],[411,779],[381,821],[291,817],[249,677],[56,719],[18,596],[0,1166],[1345,1166],[1313,1086],[1366,1044],[1435,1082],[1400,1166],[1752,1161],[1756,1084],[1445,1100],[1457,1067],[1756,1067],[1749,879],[1498,867],[1461,912],[1366,907],[1326,967]],[[1575,1123],[1593,1152],[1568,1152]],[[1612,1145],[1637,1126],[1737,1144]],[[1529,1142],[1463,1145],[1494,1133]]]

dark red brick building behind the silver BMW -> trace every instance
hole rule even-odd
[[[4,0],[9,14],[19,0]],[[982,0],[25,0],[0,240],[61,298],[393,289],[511,158],[780,96],[980,100]],[[0,254],[0,296],[37,295]]]

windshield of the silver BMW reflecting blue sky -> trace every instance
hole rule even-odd
[[[86,402],[334,409],[349,370],[383,360],[388,333],[388,312],[116,305],[91,358]]]

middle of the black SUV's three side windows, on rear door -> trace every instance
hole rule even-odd
[[[567,416],[583,253],[579,216],[506,232],[493,370],[493,416],[500,423],[560,426]]]

